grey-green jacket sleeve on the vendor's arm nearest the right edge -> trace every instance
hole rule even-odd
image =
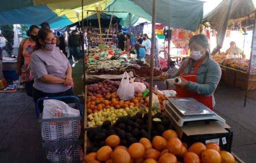
[[[207,67],[204,84],[188,81],[186,89],[197,92],[198,94],[202,94],[204,96],[210,96],[217,88],[220,77],[221,69],[219,64],[214,61],[209,63],[209,66]]]

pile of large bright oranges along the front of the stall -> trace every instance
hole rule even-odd
[[[120,146],[120,138],[116,135],[107,137],[106,146],[97,153],[85,156],[85,163],[234,163],[235,158],[227,151],[220,151],[219,145],[214,142],[204,145],[196,142],[187,149],[173,130],[171,138],[156,136],[152,142],[141,138],[130,147]]]

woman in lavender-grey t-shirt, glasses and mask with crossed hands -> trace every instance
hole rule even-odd
[[[38,31],[30,64],[34,75],[34,102],[43,97],[74,96],[72,68],[67,57],[56,47],[56,40],[52,31]],[[73,103],[67,99],[61,101]],[[39,103],[39,110],[42,112],[43,103]]]

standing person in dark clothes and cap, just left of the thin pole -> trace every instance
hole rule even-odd
[[[81,37],[77,33],[77,30],[73,30],[68,37],[68,47],[70,48],[71,55],[74,57],[73,62],[79,62]]]

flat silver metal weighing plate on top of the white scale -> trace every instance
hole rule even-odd
[[[168,98],[171,105],[183,116],[200,116],[214,112],[195,98]]]

